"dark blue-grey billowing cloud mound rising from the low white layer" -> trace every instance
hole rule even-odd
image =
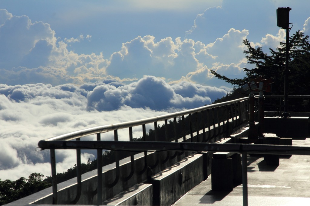
[[[122,105],[154,110],[194,108],[210,104],[226,94],[226,90],[216,87],[184,81],[170,85],[163,79],[144,76],[137,82],[117,88],[108,84],[95,87],[88,93],[87,106],[99,111],[120,109]]]

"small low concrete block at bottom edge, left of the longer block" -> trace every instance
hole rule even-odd
[[[121,192],[110,200],[104,201],[104,205],[152,205],[152,184],[137,184],[126,191]]]

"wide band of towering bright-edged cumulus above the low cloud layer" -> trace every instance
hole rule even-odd
[[[231,51],[234,47],[240,50],[240,39],[247,35],[246,30],[231,29],[213,44],[180,37],[156,41],[155,36],[138,36],[105,58],[102,53],[76,54],[68,50],[68,44],[91,41],[89,34],[61,41],[47,23],[33,23],[28,16],[13,16],[7,10],[1,10],[1,16],[0,47],[5,49],[0,51],[0,80],[8,85],[81,85],[110,77],[137,80],[144,75],[161,77],[167,82],[186,79],[208,84],[212,79],[208,70],[213,63],[227,57],[238,63],[238,52]],[[224,47],[226,52],[219,52]],[[200,71],[208,74],[205,79],[191,79],[192,73]]]

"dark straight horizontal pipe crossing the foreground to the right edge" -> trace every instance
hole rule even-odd
[[[48,146],[48,145],[47,145]],[[253,154],[310,155],[310,147],[268,144],[217,144],[197,142],[54,141],[57,149],[106,149],[117,151],[248,152]]]

